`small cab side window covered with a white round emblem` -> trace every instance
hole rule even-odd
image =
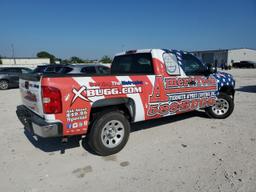
[[[180,68],[177,62],[177,58],[172,53],[164,53],[163,59],[166,67],[166,71],[169,75],[180,75]]]

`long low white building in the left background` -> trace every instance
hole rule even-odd
[[[50,64],[49,58],[31,58],[31,57],[16,57],[16,58],[1,58],[2,65],[8,67],[36,67],[37,65]]]

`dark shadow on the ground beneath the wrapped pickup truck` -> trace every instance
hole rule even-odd
[[[180,114],[176,116],[163,117],[161,119],[143,121],[139,123],[133,123],[131,125],[131,132],[136,132],[145,129],[155,128],[164,124],[181,121],[184,119],[188,119],[191,117],[202,117],[208,118],[208,116],[203,111],[193,111],[185,114]],[[44,151],[44,152],[56,152],[60,151],[61,154],[65,153],[66,149],[71,149],[75,147],[82,147],[89,153],[95,154],[88,143],[86,142],[86,138],[82,138],[81,136],[72,136],[68,138],[68,141],[63,143],[61,142],[61,138],[39,138],[33,136],[26,129],[24,131],[25,136],[30,141],[34,147]],[[80,144],[80,141],[81,144]]]

